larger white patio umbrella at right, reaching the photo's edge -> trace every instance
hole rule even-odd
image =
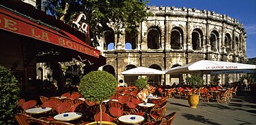
[[[213,71],[219,70],[253,70],[256,69],[256,65],[250,64],[239,64],[226,61],[210,61],[210,60],[200,60],[185,66],[179,66],[175,68],[168,68],[165,70],[167,74],[179,74],[179,73],[211,73]]]

